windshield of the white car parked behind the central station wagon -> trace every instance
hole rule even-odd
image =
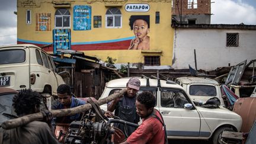
[[[191,85],[190,95],[216,96],[216,88],[212,85]]]

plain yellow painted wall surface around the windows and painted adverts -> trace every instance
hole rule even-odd
[[[53,1],[62,2],[62,1]],[[71,41],[72,43],[88,42],[88,41],[104,41],[115,40],[134,36],[133,31],[130,30],[129,18],[130,15],[150,15],[150,50],[152,52],[142,52],[141,50],[85,50],[85,55],[95,56],[103,61],[107,56],[116,58],[116,63],[143,63],[143,56],[161,56],[161,65],[172,64],[172,47],[174,39],[174,30],[171,28],[171,1],[163,0],[103,0],[97,1],[64,1],[71,2],[71,7],[67,8],[71,13]],[[28,2],[27,0],[18,0],[18,39],[41,41],[44,43],[52,43],[52,30],[55,28],[55,11],[56,8],[52,0],[34,0]],[[105,12],[110,7],[105,5],[120,5],[117,7],[122,14],[121,28],[105,28]],[[150,10],[148,12],[127,12],[124,9],[126,4],[149,4]],[[73,7],[75,5],[90,5],[91,6],[91,30],[87,31],[73,31]],[[26,24],[26,10],[31,10],[31,24]],[[160,24],[155,24],[155,12],[160,12]],[[36,14],[37,13],[51,13],[51,31],[36,31]],[[93,16],[101,15],[101,28],[93,27]],[[159,53],[162,52],[162,53]]]

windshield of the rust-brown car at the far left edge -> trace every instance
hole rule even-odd
[[[13,97],[14,94],[0,95],[0,124],[10,119],[9,117],[4,116],[4,113],[16,116],[14,109],[12,108]]]

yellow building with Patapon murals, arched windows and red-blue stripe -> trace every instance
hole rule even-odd
[[[18,0],[17,7],[18,43],[116,63],[172,64],[171,0]]]

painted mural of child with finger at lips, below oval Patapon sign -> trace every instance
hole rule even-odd
[[[130,41],[129,50],[149,50],[149,15],[132,15],[129,19],[130,29],[135,39]]]

